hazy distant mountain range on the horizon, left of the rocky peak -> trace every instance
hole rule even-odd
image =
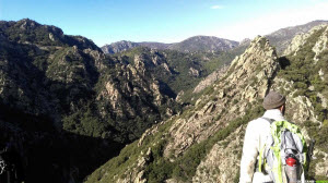
[[[117,53],[132,49],[136,47],[149,47],[154,49],[171,49],[183,52],[214,52],[226,51],[237,47],[239,44],[234,40],[218,38],[214,36],[194,36],[186,40],[176,44],[162,44],[162,42],[132,42],[127,40],[117,41],[102,47],[104,53]]]

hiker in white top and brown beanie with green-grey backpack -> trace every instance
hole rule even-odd
[[[265,114],[250,121],[246,129],[239,183],[297,182],[301,179],[298,175],[301,173],[297,173],[297,178],[293,181],[292,178],[288,176],[290,175],[288,171],[290,169],[294,171],[297,168],[297,171],[302,172],[301,168],[303,167],[301,164],[305,163],[306,154],[304,149],[306,148],[303,148],[305,146],[304,138],[297,126],[284,119],[285,97],[277,91],[270,91],[265,97],[262,105],[266,109]],[[277,130],[274,134],[272,134],[272,129]],[[277,134],[281,134],[281,138]],[[276,138],[277,136],[279,137]],[[281,150],[281,148],[284,149]],[[286,162],[289,161],[284,160],[289,158],[296,159],[291,162],[294,163],[292,167],[288,167]],[[296,170],[293,173],[295,172]],[[304,179],[304,173],[302,173],[302,178]]]

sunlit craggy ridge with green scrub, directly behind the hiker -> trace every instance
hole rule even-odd
[[[327,180],[327,50],[316,54],[326,28],[282,58],[268,39],[255,38],[194,106],[148,130],[86,182],[238,182],[245,127],[263,113],[271,89],[286,96],[286,118],[317,141],[308,179]]]

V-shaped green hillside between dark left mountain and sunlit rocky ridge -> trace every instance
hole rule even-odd
[[[194,97],[192,90],[198,83],[201,80],[206,80],[215,70],[221,70],[222,66],[229,65],[241,50],[244,50],[244,48],[226,52],[188,53],[176,50],[138,47],[112,57],[133,62],[136,57],[142,56],[144,65],[150,73],[160,81],[161,85],[168,86],[166,89],[163,89],[163,94],[176,98],[179,102],[188,103]],[[203,87],[200,87],[200,89],[203,89]]]

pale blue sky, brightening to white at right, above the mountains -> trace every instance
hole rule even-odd
[[[328,20],[328,0],[0,0],[0,20],[31,19],[97,46],[178,42],[204,35],[241,41]]]

